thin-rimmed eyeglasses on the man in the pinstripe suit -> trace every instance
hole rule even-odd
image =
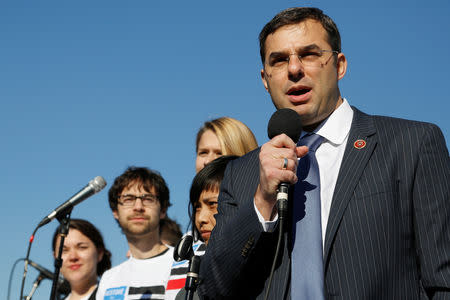
[[[328,57],[328,59],[324,61],[325,53],[331,53],[332,55],[330,55],[330,57]],[[289,65],[291,56],[294,55],[298,58],[298,60],[304,67],[322,68],[328,63],[333,54],[338,53],[339,52],[335,50],[308,50],[300,54],[276,53],[275,55],[269,58],[267,65],[268,68],[272,71],[284,71],[287,69],[287,66]]]

